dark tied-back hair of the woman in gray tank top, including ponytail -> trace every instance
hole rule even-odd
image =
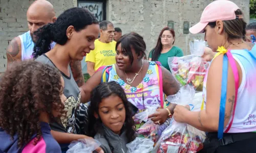
[[[51,49],[52,41],[60,45],[66,44],[68,40],[66,32],[70,25],[73,25],[75,31],[79,32],[91,24],[98,24],[98,20],[87,9],[76,7],[64,11],[54,23],[48,23],[34,32],[37,41],[33,57],[37,58],[47,53]]]

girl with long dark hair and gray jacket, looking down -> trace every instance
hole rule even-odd
[[[131,104],[117,82],[105,82],[91,94],[89,131],[105,153],[125,153],[135,139]]]

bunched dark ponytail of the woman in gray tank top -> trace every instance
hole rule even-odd
[[[34,58],[37,58],[51,50],[51,42],[53,41],[53,35],[51,32],[52,27],[53,23],[48,23],[34,32],[37,38],[32,54]]]

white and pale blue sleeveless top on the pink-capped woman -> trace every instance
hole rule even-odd
[[[256,45],[250,52],[242,49],[231,50],[230,52],[242,69],[242,82],[238,88],[236,112],[234,112],[233,122],[228,133],[254,132],[256,131]],[[206,104],[207,74],[208,70],[203,83],[204,105]],[[224,131],[226,131],[227,126]]]

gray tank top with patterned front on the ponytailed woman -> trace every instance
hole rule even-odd
[[[44,54],[39,56],[36,61],[49,64],[56,67],[53,62]],[[67,97],[65,101],[65,111],[67,111],[66,117],[55,118],[50,123],[51,129],[54,131],[65,132],[65,133],[76,133],[75,132],[75,112],[80,104],[81,94],[80,90],[73,78],[71,68],[69,67],[70,77],[62,73],[62,78],[65,81],[64,94]]]

